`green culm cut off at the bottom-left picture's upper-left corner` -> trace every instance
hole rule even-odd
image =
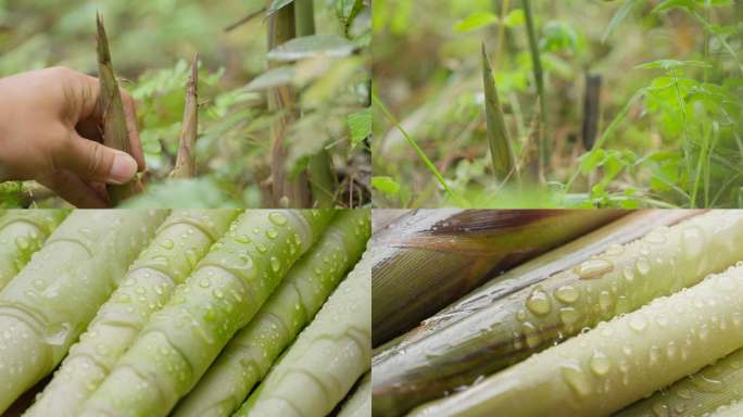
[[[66,210],[12,210],[0,214],[0,290],[28,263],[67,216]]]

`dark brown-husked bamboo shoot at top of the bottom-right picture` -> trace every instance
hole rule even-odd
[[[410,330],[486,279],[624,214],[440,210],[400,217],[373,237],[374,345]]]

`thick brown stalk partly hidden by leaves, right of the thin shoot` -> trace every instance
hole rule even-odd
[[[294,3],[289,3],[268,16],[268,50],[297,37]],[[269,64],[273,66],[273,64]],[[289,86],[268,90],[268,110],[280,113],[272,125],[272,187],[274,204],[281,207],[308,207],[310,187],[305,173],[289,178],[287,173],[286,136],[289,126],[297,119],[297,98]]]

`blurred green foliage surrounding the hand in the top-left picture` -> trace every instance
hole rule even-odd
[[[349,189],[353,184],[352,188],[361,188],[354,199],[337,191],[338,204],[367,204],[368,185],[354,176],[369,164],[365,141],[369,129],[364,125],[369,122],[364,115],[370,104],[370,8],[364,1],[317,2],[318,34],[273,51],[266,51],[266,25],[261,17],[223,30],[236,16],[264,8],[264,1],[230,0],[214,8],[196,0],[104,5],[59,0],[43,10],[38,3],[0,2],[0,42],[10,46],[0,56],[0,74],[53,64],[95,74],[91,45],[96,10],[100,9],[116,73],[123,77],[121,85],[138,102],[148,165],[147,192],[127,206],[172,206],[169,201],[175,206],[268,204],[269,128],[281,111],[267,110],[265,91],[285,85],[298,91],[301,100],[292,111],[302,115],[286,138],[291,150],[288,170],[304,169],[307,159],[325,149],[335,172],[341,173],[341,187]],[[269,13],[288,3],[274,1]],[[4,25],[13,21],[26,25],[17,29]],[[4,31],[5,26],[13,29]],[[201,58],[196,142],[200,178],[172,184],[166,178],[178,151],[189,61],[196,52]],[[269,61],[284,66],[266,70]],[[18,187],[39,188],[36,184],[3,185],[0,204],[62,204],[58,199],[36,199]]]

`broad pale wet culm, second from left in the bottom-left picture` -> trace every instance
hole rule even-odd
[[[115,289],[166,211],[78,211],[0,293],[0,413],[51,372]]]

